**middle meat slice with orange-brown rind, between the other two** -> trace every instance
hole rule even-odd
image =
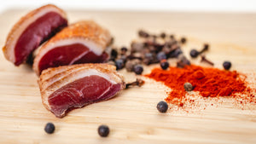
[[[33,69],[39,75],[49,67],[104,62],[110,42],[109,32],[94,21],[79,21],[58,32],[38,50]]]

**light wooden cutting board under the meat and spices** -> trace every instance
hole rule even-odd
[[[21,15],[29,9],[9,9],[0,14],[0,44]],[[256,14],[201,14],[167,12],[120,12],[68,10],[71,22],[96,20],[108,27],[119,47],[129,46],[137,30],[168,32],[188,37],[183,46],[201,49],[210,43],[207,57],[215,67],[224,60],[232,69],[253,73],[256,70]],[[199,60],[193,61],[200,64]],[[172,63],[172,66],[175,65]],[[202,65],[202,64],[201,64]],[[158,66],[158,65],[154,65]],[[145,67],[147,73],[154,66]],[[127,82],[133,73],[120,71]],[[255,75],[250,81],[255,83]],[[145,78],[144,78],[145,79]],[[29,66],[16,67],[0,54],[0,143],[256,143],[256,106],[241,110],[231,101],[206,109],[161,114],[156,104],[166,97],[162,84],[145,79],[142,88],[124,90],[112,100],[103,101],[55,118],[41,103],[37,76]],[[255,86],[255,84],[254,84]],[[44,125],[53,122],[53,135]],[[108,124],[110,135],[101,138],[97,127]]]

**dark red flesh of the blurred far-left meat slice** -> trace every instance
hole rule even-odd
[[[67,26],[67,20],[60,14],[49,12],[26,27],[15,45],[15,65],[19,66],[41,43]]]

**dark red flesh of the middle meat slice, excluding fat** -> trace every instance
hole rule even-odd
[[[107,60],[108,54],[96,55],[84,44],[73,43],[49,50],[39,61],[38,69],[42,72],[44,69],[56,66],[67,66],[80,63],[100,63]]]

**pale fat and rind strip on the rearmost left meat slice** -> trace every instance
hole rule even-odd
[[[40,18],[41,16],[43,16],[44,14],[47,14],[49,12],[55,12],[57,14],[61,14],[61,16],[63,18],[66,18],[65,14],[62,14],[60,12],[59,9],[55,9],[54,7],[49,7],[46,9],[42,9],[40,10],[37,14],[34,14],[33,17],[30,17],[29,19],[25,20],[20,26],[19,28],[17,28],[15,30],[15,32],[13,32],[13,34],[10,36],[11,37],[11,41],[9,41],[8,43],[6,43],[6,45],[9,46],[9,51],[8,51],[8,55],[9,55],[9,60],[12,62],[15,62],[15,43],[17,43],[18,39],[20,38],[20,35],[22,34],[22,32],[24,32],[26,30],[27,26],[30,26],[32,24],[32,22],[34,22],[35,20],[37,20],[38,18]]]

